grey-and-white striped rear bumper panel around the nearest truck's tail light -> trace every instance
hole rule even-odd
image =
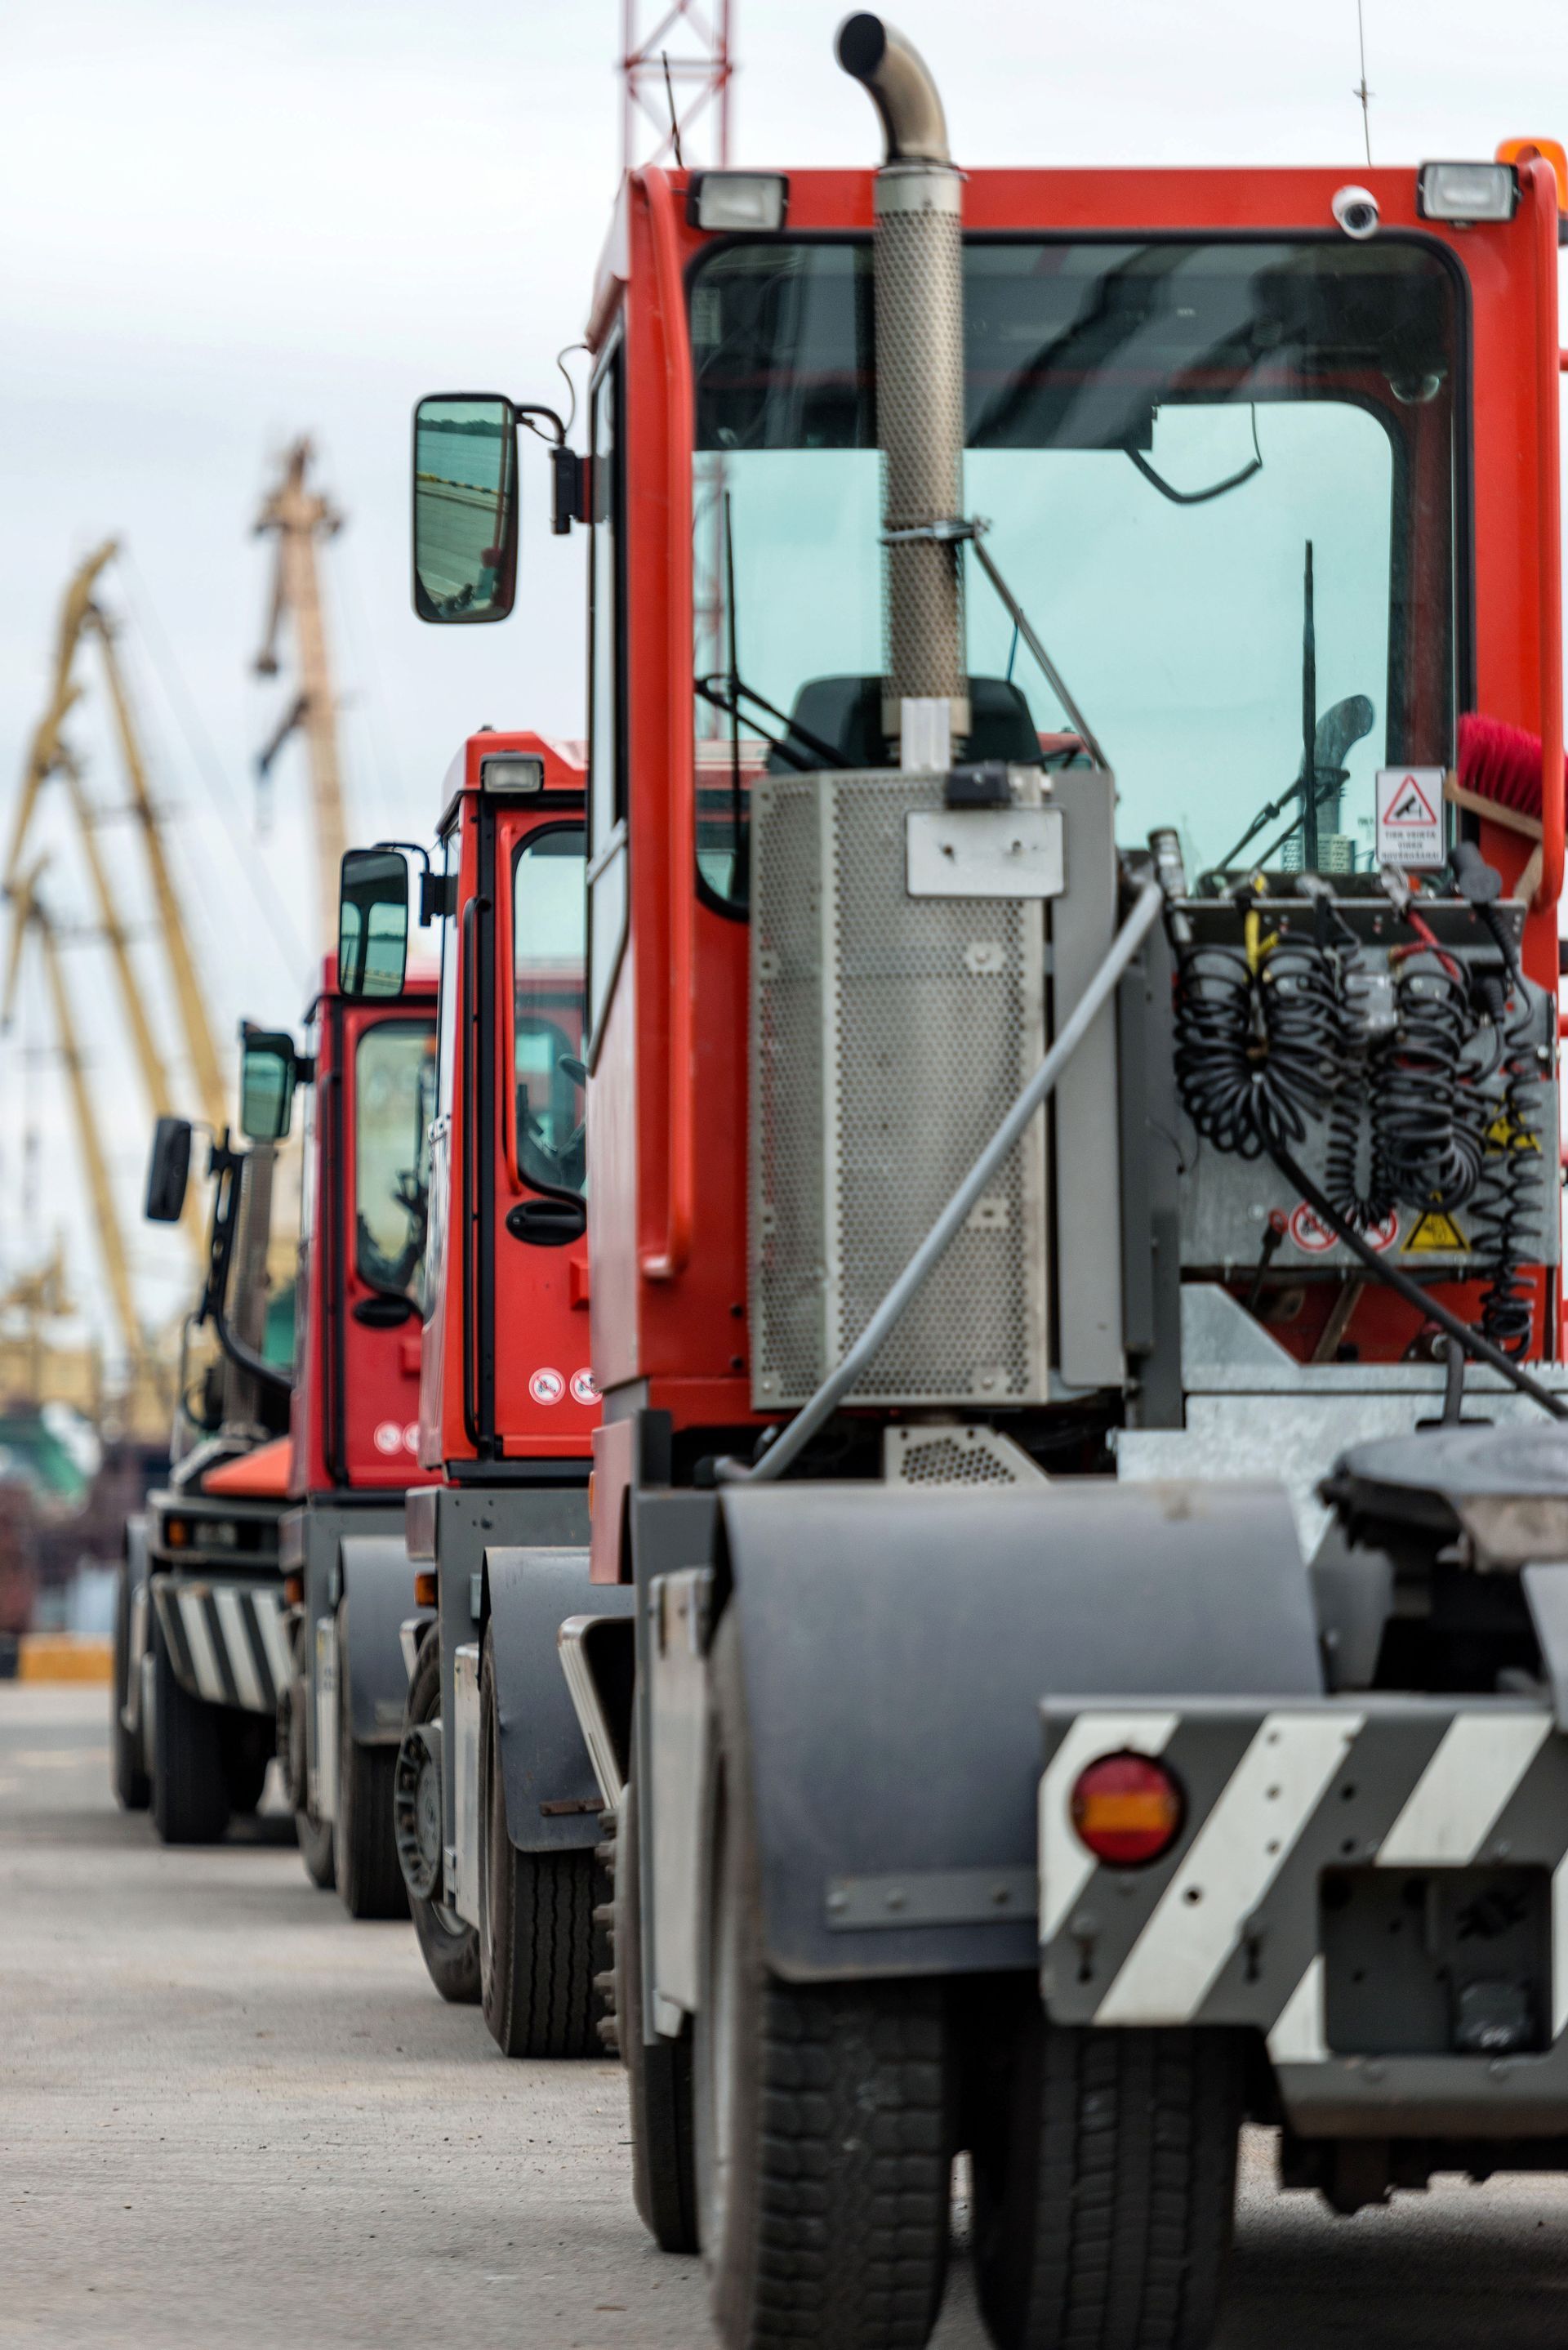
[[[1328,1868],[1540,1866],[1554,1878],[1554,2037],[1568,2028],[1568,1739],[1537,1706],[1462,1699],[1046,1706],[1041,1986],[1058,2023],[1251,2023],[1321,2049]],[[1145,1741],[1128,1723],[1147,1718]],[[1056,1755],[1072,1746],[1072,1770]],[[1072,1781],[1161,1753],[1187,1798],[1168,1859],[1084,1868]]]

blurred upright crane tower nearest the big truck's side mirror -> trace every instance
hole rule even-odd
[[[310,442],[296,439],[284,456],[282,479],[268,494],[256,517],[256,536],[270,533],[277,538],[273,597],[266,639],[256,656],[256,674],[277,677],[277,632],[284,618],[294,623],[294,651],[299,658],[299,693],[256,759],[256,766],[266,776],[289,736],[303,728],[315,815],[317,952],[324,952],[339,928],[339,865],[343,862],[348,832],[343,822],[339,719],[327,660],[315,548],[320,538],[331,538],[343,526],[343,517],[320,491],[310,489]]]

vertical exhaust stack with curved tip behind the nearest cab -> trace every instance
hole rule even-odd
[[[837,35],[886,136],[877,172],[877,444],[886,533],[882,728],[905,768],[969,736],[964,672],[964,174],[919,52],[860,9]],[[914,705],[914,707],[910,707]]]

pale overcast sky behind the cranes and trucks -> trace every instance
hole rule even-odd
[[[832,63],[835,0],[736,0],[733,160],[870,162],[870,108]],[[654,0],[644,0],[654,16]],[[966,164],[1361,160],[1354,0],[900,0]],[[254,752],[287,679],[252,677],[268,548],[252,522],[308,430],[346,515],[329,566],[350,837],[430,830],[482,724],[581,733],[581,548],[527,477],[508,627],[409,613],[407,418],[423,390],[555,400],[621,164],[621,0],[49,0],[0,9],[0,825],[45,693],[71,566],[106,578],[174,855],[226,1034],[287,1022],[313,909],[303,757],[256,837]],[[1366,0],[1373,157],[1490,155],[1568,132],[1563,0]],[[691,160],[691,157],[689,157]],[[96,682],[94,682],[96,684]],[[94,693],[96,698],[96,693]],[[96,712],[75,738],[106,808]],[[87,926],[59,813],[49,893]],[[146,893],[108,830],[127,909]],[[153,940],[139,956],[153,973]],[[167,1309],[179,1243],[136,1222],[146,1112],[101,954],[71,982],[122,1213]],[[33,971],[0,1041],[0,1290],[66,1227],[106,1328]],[[35,1166],[24,1135],[38,1128]]]

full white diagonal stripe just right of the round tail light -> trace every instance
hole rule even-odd
[[[1095,2023],[1190,2023],[1363,1716],[1267,1713],[1105,1993]]]

